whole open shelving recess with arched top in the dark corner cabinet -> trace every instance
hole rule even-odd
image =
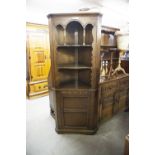
[[[78,21],[56,26],[59,88],[91,88],[93,27]]]

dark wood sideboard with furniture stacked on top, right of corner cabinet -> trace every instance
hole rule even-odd
[[[107,120],[128,108],[129,76],[117,48],[119,29],[103,26],[101,39],[101,73],[99,83],[99,119]]]

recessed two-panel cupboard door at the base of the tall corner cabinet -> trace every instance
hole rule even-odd
[[[63,96],[63,125],[64,127],[86,127],[88,97]]]

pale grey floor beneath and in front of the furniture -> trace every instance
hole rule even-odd
[[[123,155],[129,113],[100,124],[95,135],[57,134],[48,96],[27,100],[26,155]]]

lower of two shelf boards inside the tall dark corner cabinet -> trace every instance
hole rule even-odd
[[[65,64],[65,65],[59,65],[58,69],[71,69],[71,70],[77,70],[77,69],[91,69],[91,67],[84,66],[84,65],[75,65],[75,64]]]

